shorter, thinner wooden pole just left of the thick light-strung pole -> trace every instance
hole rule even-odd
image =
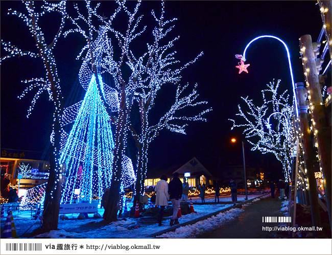
[[[296,98],[299,109],[299,120],[301,127],[301,137],[304,150],[304,161],[306,166],[306,176],[308,179],[308,192],[311,207],[311,217],[313,226],[320,227],[320,213],[318,203],[317,182],[315,172],[319,172],[318,161],[314,151],[314,143],[309,127],[309,113],[307,113],[307,106],[304,97],[304,83],[298,82],[296,85]]]

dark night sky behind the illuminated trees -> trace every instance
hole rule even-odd
[[[34,41],[23,21],[6,15],[8,8],[22,10],[18,1],[1,1],[1,39],[11,41],[23,50],[34,50]],[[218,173],[225,165],[242,164],[240,143],[230,144],[230,138],[244,138],[241,129],[230,130],[238,112],[238,104],[244,105],[241,96],[249,96],[257,104],[262,103],[260,90],[274,79],[281,79],[280,89],[289,89],[291,78],[286,50],[274,39],[260,39],[247,50],[246,63],[249,74],[239,75],[235,68],[239,60],[235,54],[243,54],[249,41],[260,35],[274,35],[288,45],[293,66],[294,81],[303,82],[302,62],[299,58],[299,37],[311,34],[317,40],[322,20],[317,1],[167,1],[165,12],[168,18],[176,17],[172,37],[180,35],[175,44],[177,58],[184,64],[194,59],[201,51],[204,55],[183,72],[182,84],[197,82],[201,100],[208,101],[213,111],[206,114],[207,122],[190,123],[187,135],[162,131],[150,146],[149,171],[179,167],[193,157],[211,172]],[[72,3],[68,2],[69,5]],[[102,1],[100,13],[106,16],[114,10],[115,3]],[[144,1],[140,13],[151,15],[150,9],[160,10],[159,2]],[[24,7],[23,7],[24,9]],[[57,15],[46,15],[42,28],[47,38],[53,38]],[[49,31],[49,32],[46,32]],[[151,33],[151,30],[146,32]],[[147,35],[136,41],[149,38]],[[171,38],[171,37],[170,37]],[[56,61],[61,79],[66,106],[82,97],[83,89],[78,84],[81,61],[75,57],[83,45],[83,38],[70,36],[60,39],[56,46]],[[144,46],[144,44],[143,44]],[[1,52],[1,56],[6,53]],[[327,61],[323,64],[323,68]],[[33,94],[18,100],[25,85],[21,80],[38,77],[43,72],[40,61],[29,57],[5,60],[1,65],[1,148],[44,151],[49,148],[51,134],[52,104],[44,94],[35,106],[29,119],[27,109]],[[159,113],[167,110],[175,90],[164,91],[157,103]],[[158,99],[158,98],[157,98]],[[157,108],[157,107],[156,107]],[[157,113],[156,113],[157,114]],[[153,123],[153,120],[151,120]],[[265,160],[276,171],[281,163],[274,156],[251,152],[247,147],[248,165]]]

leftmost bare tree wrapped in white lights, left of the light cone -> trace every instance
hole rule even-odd
[[[24,97],[28,94],[29,91],[38,88],[34,98],[32,99],[31,106],[28,109],[28,115],[31,114],[37,99],[40,97],[42,92],[47,92],[49,95],[49,100],[54,104],[53,112],[53,143],[50,154],[50,176],[48,185],[45,192],[44,200],[44,210],[43,210],[43,230],[49,231],[57,229],[58,227],[58,218],[59,218],[59,208],[60,208],[60,194],[61,194],[61,178],[62,178],[62,169],[58,162],[59,153],[60,153],[60,141],[61,141],[61,127],[60,119],[63,112],[63,98],[60,88],[60,78],[57,72],[57,65],[54,57],[54,48],[57,43],[58,38],[62,35],[66,9],[65,1],[61,1],[57,4],[48,4],[43,3],[41,8],[38,8],[34,5],[33,1],[22,1],[26,7],[27,13],[20,13],[18,11],[9,10],[9,14],[14,14],[19,18],[22,18],[26,22],[26,25],[29,28],[31,35],[33,36],[36,42],[37,53],[30,51],[23,51],[17,48],[15,45],[10,42],[2,41],[2,45],[9,53],[9,55],[2,57],[2,60],[15,56],[30,56],[33,58],[39,58],[44,64],[45,75],[43,77],[32,78],[26,81],[29,86],[22,92],[22,95],[19,98]],[[39,11],[38,11],[38,10]],[[49,43],[46,42],[44,34],[39,27],[39,19],[46,13],[57,12],[60,15],[61,22],[59,29],[53,40]]]

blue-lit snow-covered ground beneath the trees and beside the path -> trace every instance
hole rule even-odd
[[[251,199],[261,195],[262,194],[248,195],[248,198]],[[238,195],[239,202],[245,201],[244,198],[244,195]],[[214,201],[214,197],[205,198],[206,203]],[[193,202],[194,209],[197,213],[182,215],[179,219],[180,223],[191,221],[210,213],[218,212],[233,205],[233,203],[231,203],[230,196],[220,197],[221,203],[217,204],[200,204],[199,197],[193,198]],[[242,212],[243,210],[240,208],[232,208],[227,212],[220,213],[195,224],[179,227],[176,231],[163,234],[160,237],[193,238],[196,235],[201,234],[202,231],[215,228],[224,222],[232,220],[234,217],[239,216]],[[104,210],[99,209],[99,214],[103,215],[103,213]],[[18,236],[21,236],[26,231],[31,232],[32,229],[39,226],[40,220],[33,220],[30,215],[30,211],[20,214],[17,214],[17,212],[13,213]],[[171,218],[171,216],[164,217],[162,226],[158,226],[156,218],[152,217],[127,218],[111,222],[104,226],[101,223],[103,219],[92,218],[92,214],[89,214],[90,218],[83,220],[77,219],[78,214],[67,214],[66,216],[69,218],[68,220],[59,220],[59,230],[53,230],[49,233],[38,235],[36,238],[148,238],[150,235],[157,233],[158,231],[169,228]],[[2,219],[2,227],[4,222],[5,220]]]

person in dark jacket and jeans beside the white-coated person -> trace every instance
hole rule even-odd
[[[169,193],[173,206],[173,215],[170,226],[174,226],[174,224],[179,224],[178,212],[180,209],[180,199],[182,197],[182,182],[179,179],[179,174],[177,172],[173,173],[173,179],[169,184]]]

